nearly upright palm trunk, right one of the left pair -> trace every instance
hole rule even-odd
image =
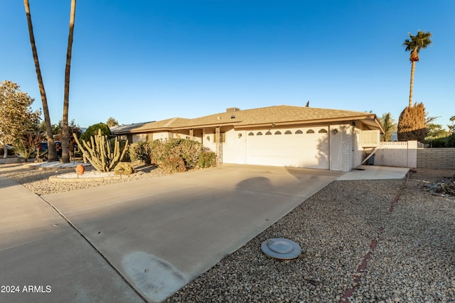
[[[63,119],[62,119],[62,162],[70,162],[70,134],[68,130],[68,108],[70,104],[70,68],[71,51],[73,50],[74,19],[76,13],[76,0],[71,0],[70,11],[70,33],[68,34],[68,48],[66,52],[65,67],[65,93],[63,97]]]

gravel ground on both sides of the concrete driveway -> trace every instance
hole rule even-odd
[[[54,183],[66,170],[0,165],[36,194],[122,180]],[[417,170],[407,180],[335,181],[166,302],[455,302],[455,199],[426,190],[454,170]],[[302,248],[294,260],[268,258],[268,238]]]

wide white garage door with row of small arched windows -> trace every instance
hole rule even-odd
[[[328,170],[328,127],[248,131],[247,164]]]

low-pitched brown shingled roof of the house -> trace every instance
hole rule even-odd
[[[331,121],[349,121],[370,119],[377,120],[375,114],[362,111],[345,111],[340,109],[316,109],[302,106],[269,106],[259,109],[246,109],[223,112],[195,119],[172,118],[162,121],[144,123],[132,132],[160,131],[184,128],[214,127],[233,125],[235,128],[261,126],[275,123],[290,125],[294,123],[329,123]]]

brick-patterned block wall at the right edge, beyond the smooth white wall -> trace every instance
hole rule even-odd
[[[455,148],[418,148],[417,168],[455,170]]]

